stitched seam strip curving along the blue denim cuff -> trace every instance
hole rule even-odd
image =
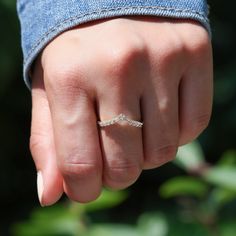
[[[38,45],[40,45],[40,43],[43,41],[44,38],[46,38],[49,34],[51,34],[52,32],[56,31],[61,25],[67,23],[67,22],[73,22],[76,19],[79,18],[83,18],[85,16],[90,16],[93,14],[98,14],[98,13],[106,13],[106,12],[113,12],[113,11],[120,11],[120,10],[129,10],[129,9],[159,9],[159,10],[166,10],[166,11],[172,11],[172,12],[176,12],[176,13],[193,13],[193,14],[197,14],[199,16],[201,16],[204,20],[208,21],[207,17],[205,17],[204,12],[198,12],[198,11],[194,11],[191,9],[178,9],[178,8],[171,8],[171,7],[161,7],[161,6],[132,6],[132,7],[118,7],[118,8],[106,8],[106,9],[102,9],[100,11],[93,11],[93,12],[89,12],[80,16],[75,16],[75,17],[71,17],[71,18],[67,18],[66,20],[63,20],[62,22],[60,22],[59,24],[55,25],[54,27],[50,28],[46,33],[44,33],[44,35],[34,44],[34,46],[31,48],[31,50],[29,51],[28,55],[26,56],[26,60],[24,61],[24,64],[26,63],[26,61],[28,61],[28,58],[31,57],[31,54],[33,53],[33,51],[38,47]]]

